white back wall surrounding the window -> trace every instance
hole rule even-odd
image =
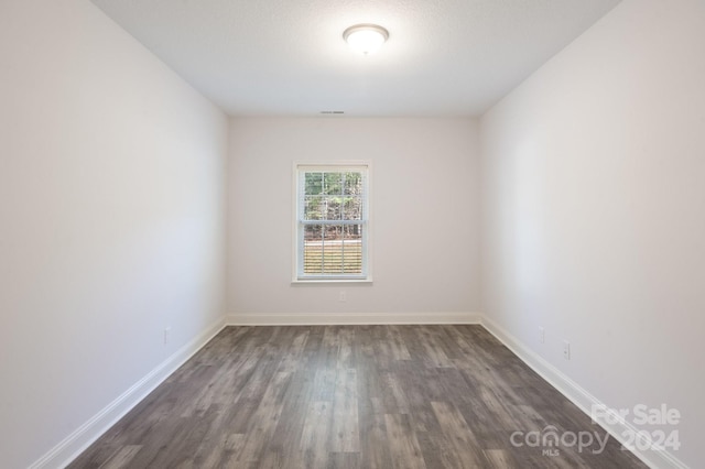
[[[477,122],[470,119],[234,119],[234,320],[477,313]],[[360,159],[372,162],[373,284],[292,285],[293,162]]]

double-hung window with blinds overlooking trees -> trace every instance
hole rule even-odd
[[[369,165],[295,168],[294,281],[369,281]]]

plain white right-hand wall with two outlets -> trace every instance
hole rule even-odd
[[[672,454],[692,467],[705,422],[704,50],[704,2],[625,0],[480,124],[484,313],[611,407],[677,408]]]

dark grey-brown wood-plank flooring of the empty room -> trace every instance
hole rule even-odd
[[[605,438],[481,326],[228,327],[69,467],[644,467],[552,432]]]

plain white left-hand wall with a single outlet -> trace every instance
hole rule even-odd
[[[0,466],[20,468],[223,319],[228,122],[87,0],[2,1],[0,68]]]

